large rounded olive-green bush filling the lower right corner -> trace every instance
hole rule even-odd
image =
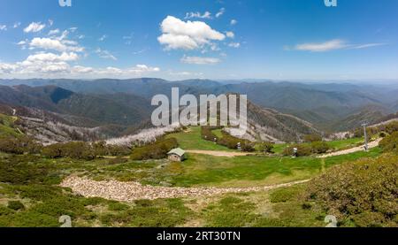
[[[345,226],[398,226],[397,169],[390,155],[336,165],[310,181],[305,199]]]

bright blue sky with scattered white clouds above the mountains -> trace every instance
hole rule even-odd
[[[398,1],[0,0],[0,78],[398,79]]]

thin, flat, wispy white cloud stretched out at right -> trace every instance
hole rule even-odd
[[[325,52],[331,50],[361,50],[371,47],[386,45],[386,43],[365,43],[365,44],[350,44],[341,39],[333,39],[327,42],[312,42],[295,45],[294,50],[311,51],[311,52]],[[291,50],[286,47],[286,50]]]

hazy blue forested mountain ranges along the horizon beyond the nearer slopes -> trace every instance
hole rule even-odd
[[[180,96],[246,94],[250,124],[258,126],[253,136],[261,132],[284,141],[315,131],[353,129],[398,111],[398,86],[391,85],[151,78],[0,80],[0,85],[0,103],[50,111],[69,125],[99,127],[110,136],[150,126],[151,97],[170,96],[173,87],[180,88]]]

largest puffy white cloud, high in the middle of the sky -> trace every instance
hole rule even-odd
[[[196,50],[211,41],[222,41],[226,36],[212,29],[203,21],[187,22],[167,16],[162,24],[163,34],[157,41],[165,45],[166,50]]]

